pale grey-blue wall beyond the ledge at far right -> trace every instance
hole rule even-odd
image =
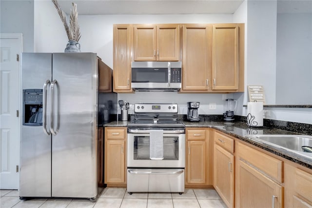
[[[277,14],[276,104],[312,104],[312,13]]]

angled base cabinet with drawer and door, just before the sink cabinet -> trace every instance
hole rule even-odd
[[[234,207],[234,139],[214,132],[214,187],[224,203]]]

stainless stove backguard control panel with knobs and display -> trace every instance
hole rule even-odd
[[[135,104],[136,113],[177,113],[177,104]]]

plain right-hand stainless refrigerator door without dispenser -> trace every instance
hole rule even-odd
[[[52,77],[52,197],[96,197],[97,55],[54,53]]]

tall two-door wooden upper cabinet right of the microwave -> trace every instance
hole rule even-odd
[[[244,91],[244,24],[184,24],[181,92]]]

